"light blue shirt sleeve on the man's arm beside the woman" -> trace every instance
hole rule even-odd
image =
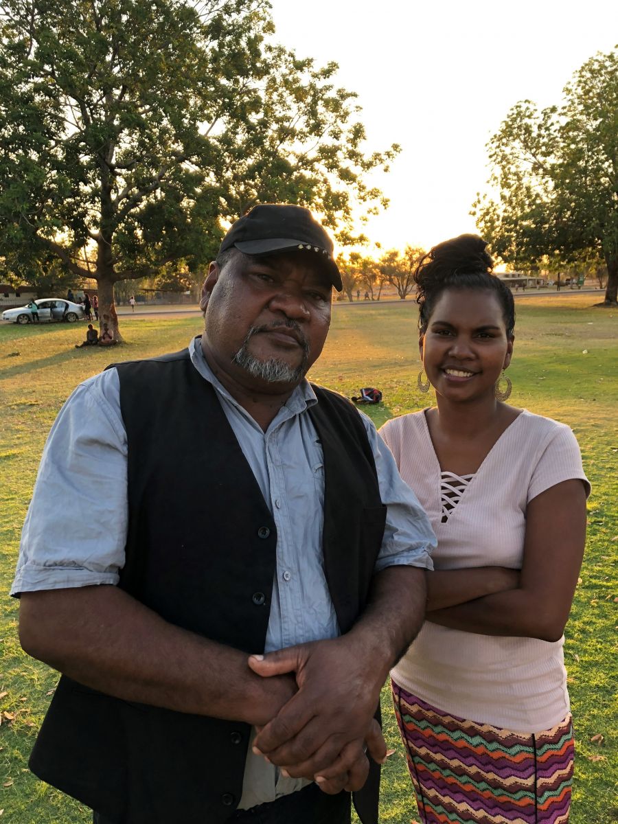
[[[416,495],[401,479],[391,450],[376,431],[367,415],[361,413],[367,437],[376,461],[377,480],[386,510],[386,527],[382,548],[377,556],[376,572],[389,566],[406,565],[433,569],[431,552],[436,536],[424,508]]]

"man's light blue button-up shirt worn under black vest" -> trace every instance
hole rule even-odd
[[[277,526],[277,565],[265,651],[339,634],[325,579],[321,517],[324,466],[319,438],[304,414],[317,403],[307,381],[264,432],[208,367],[199,345],[190,357],[218,393],[222,409]],[[376,461],[386,530],[376,571],[394,564],[432,569],[432,528],[400,479],[388,447],[362,415]],[[206,461],[206,456],[204,456]],[[115,369],[77,386],[52,427],[21,534],[12,595],[40,589],[116,584],[127,535],[127,437]],[[247,758],[241,807],[274,800],[306,782],[285,780],[261,756]]]

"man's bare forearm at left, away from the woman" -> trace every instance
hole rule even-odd
[[[246,653],[171,625],[111,586],[23,593],[20,639],[75,681],[183,713],[264,724],[295,691],[292,677],[260,678]]]

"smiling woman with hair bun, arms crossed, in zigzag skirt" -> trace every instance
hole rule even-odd
[[[574,756],[563,630],[590,485],[568,426],[504,402],[515,309],[486,246],[445,241],[414,274],[419,388],[437,405],[382,437],[438,549],[392,689],[424,824],[558,824]]]

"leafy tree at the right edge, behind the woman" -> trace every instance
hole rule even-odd
[[[514,105],[488,148],[498,198],[477,197],[473,214],[493,250],[515,268],[602,258],[604,305],[616,306],[618,52],[584,63],[563,105]]]

